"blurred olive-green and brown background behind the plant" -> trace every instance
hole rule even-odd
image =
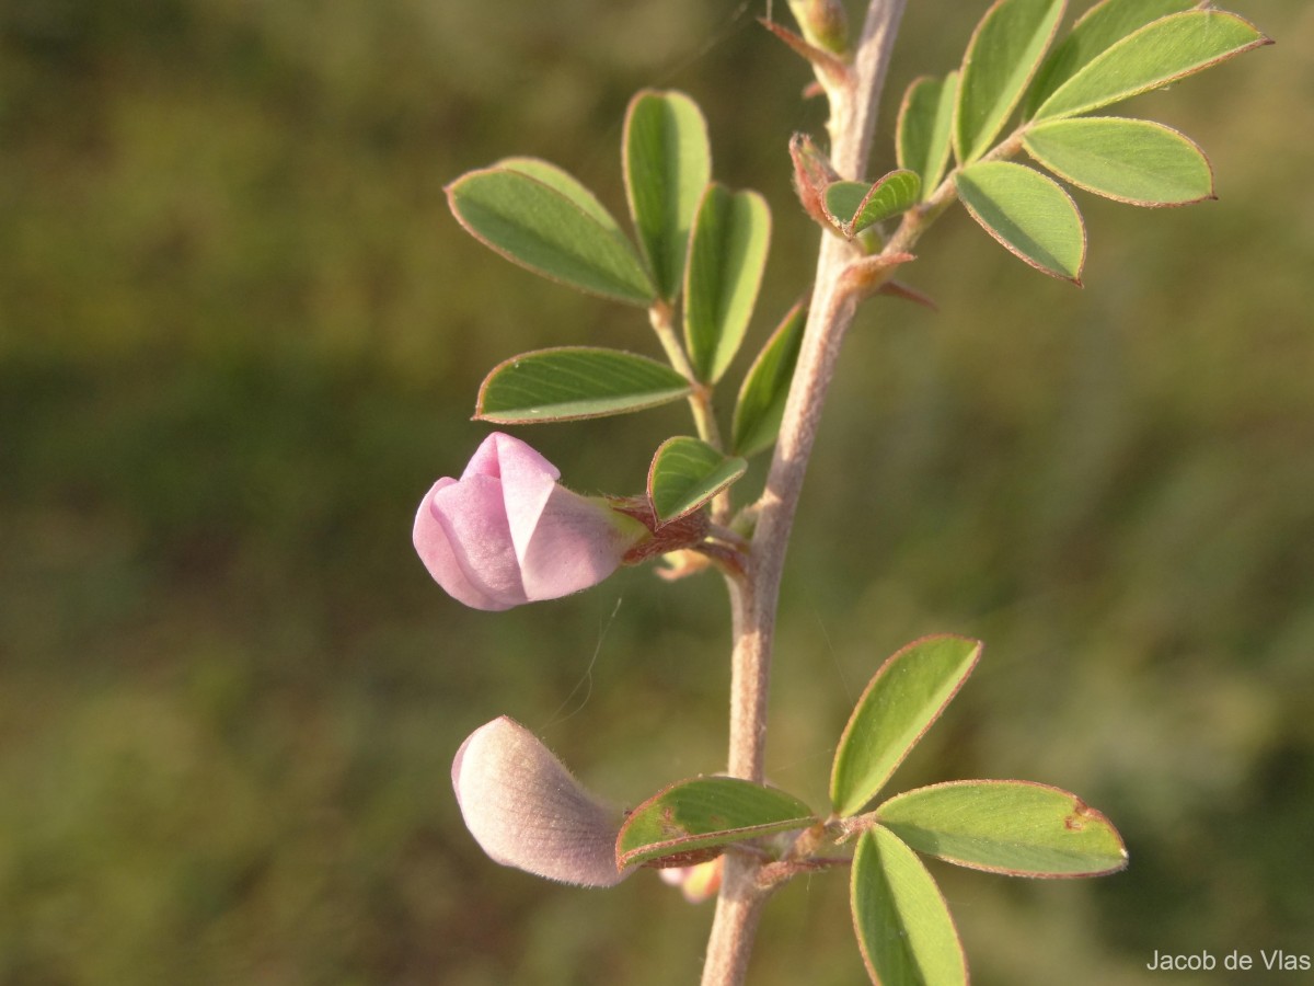
[[[936,866],[978,983],[1314,952],[1314,9],[1239,5],[1276,47],[1130,109],[1205,146],[1219,201],[1079,196],[1084,291],[950,214],[907,275],[940,312],[862,312],[809,475],[771,778],[823,803],[879,661],[963,632],[986,659],[897,786],[1046,781],[1130,847],[1099,881]],[[984,1],[909,8],[876,168]],[[805,288],[784,146],[823,110],[761,12],[0,5],[0,983],[696,981],[710,906],[493,865],[448,770],[502,713],[620,803],[719,769],[721,586],[636,569],[473,613],[409,532],[486,434],[494,363],[656,351],[641,314],[466,238],[456,175],[535,154],[622,210],[625,103],[678,87],[717,176],[775,206],[758,339]],[[574,488],[636,492],[687,429],[520,434]],[[841,874],[790,885],[753,982],[865,981],[845,904]]]

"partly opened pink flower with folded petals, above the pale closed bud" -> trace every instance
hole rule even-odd
[[[518,438],[484,439],[461,479],[440,479],[419,505],[415,551],[430,575],[466,606],[506,610],[615,572],[648,528],[560,476]]]

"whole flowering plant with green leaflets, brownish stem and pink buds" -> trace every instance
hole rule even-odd
[[[1112,873],[1127,856],[1104,815],[1045,784],[886,793],[980,659],[982,644],[958,636],[911,643],[875,670],[838,736],[829,805],[763,782],[778,586],[840,344],[865,300],[921,297],[894,276],[954,201],[1028,264],[1079,284],[1085,225],[1064,185],[1147,206],[1212,197],[1209,162],[1189,138],[1105,110],[1268,39],[1208,3],[1104,0],[1055,43],[1062,0],[997,0],[959,68],[909,87],[899,167],[872,180],[869,143],[903,0],[870,0],[853,35],[838,0],[788,5],[799,33],[765,24],[811,63],[830,106],[827,141],[796,134],[788,143],[799,200],[823,230],[811,289],[799,284],[808,301],[758,343],[725,401],[771,221],[759,195],[712,179],[703,116],[682,93],[646,91],[629,104],[622,153],[633,238],[547,162],[507,158],[461,176],[448,197],[472,235],[522,267],[646,313],[665,358],[591,346],[524,352],[484,380],[476,418],[520,426],[686,401],[696,434],[656,450],[640,493],[590,498],[561,485],[524,442],[493,433],[460,480],[438,481],[415,521],[432,576],[485,610],[552,599],[658,557],[670,563],[668,577],[719,573],[733,640],[725,773],[678,780],[623,814],[502,716],[463,744],[452,781],[470,832],[497,862],[589,886],[658,868],[691,898],[719,885],[704,983],[744,979],[775,887],[845,868],[872,982],[964,983],[958,933],[918,853],[1029,877]],[[1022,154],[1030,163],[1016,160]],[[769,451],[763,489],[736,496],[746,459]]]

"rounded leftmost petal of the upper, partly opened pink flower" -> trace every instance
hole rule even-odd
[[[505,610],[528,601],[498,480],[474,476],[435,482],[415,514],[413,539],[434,581],[459,602]]]

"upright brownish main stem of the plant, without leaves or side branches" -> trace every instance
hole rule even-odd
[[[866,171],[876,108],[904,3],[870,0],[850,83],[830,92],[830,159],[844,177],[861,179]],[[758,501],[748,572],[742,580],[727,580],[735,642],[728,772],[750,781],[762,780],[771,640],[790,530],[840,343],[858,306],[857,294],[844,284],[844,271],[853,259],[854,248],[849,243],[823,234],[808,323],[766,489]],[[724,866],[707,943],[703,986],[740,986],[744,982],[762,904],[769,895],[758,885],[759,862],[728,853]]]

